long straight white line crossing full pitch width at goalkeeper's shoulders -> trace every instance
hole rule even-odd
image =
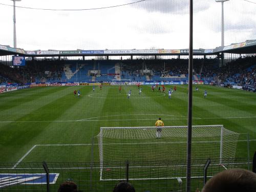
[[[256,116],[252,117],[194,117],[194,119],[249,119],[249,118],[256,118]],[[164,120],[186,120],[187,118],[167,118]],[[80,121],[131,121],[131,120],[140,120],[140,121],[148,121],[148,120],[156,120],[154,119],[86,119],[86,120],[54,120],[54,121],[0,121],[0,123],[15,123],[15,122],[80,122]]]

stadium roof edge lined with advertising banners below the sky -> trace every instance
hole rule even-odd
[[[246,40],[237,44],[231,44],[225,47],[215,49],[194,49],[194,55],[216,55],[219,53],[250,54],[256,53],[256,39]],[[9,46],[0,45],[0,56],[19,55],[27,57],[45,57],[45,56],[124,56],[124,55],[188,55],[188,49],[174,50],[48,50],[48,51],[25,51],[24,49],[15,49]]]

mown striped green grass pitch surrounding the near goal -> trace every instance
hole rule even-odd
[[[167,86],[166,92],[169,87],[173,86]],[[116,86],[103,86],[101,91],[96,87],[95,92],[92,87],[81,86],[32,88],[1,94],[0,162],[14,165],[35,145],[20,164],[90,162],[92,138],[99,133],[100,127],[154,126],[158,117],[165,126],[187,124],[187,86],[177,86],[172,99],[168,99],[167,94],[152,92],[149,86],[142,88],[141,95],[136,86],[122,86],[121,93]],[[80,98],[74,97],[75,89],[80,89]],[[130,89],[132,95],[127,99]],[[206,98],[203,97],[205,89],[208,91]],[[199,86],[196,92],[194,86],[193,125],[211,124],[223,124],[228,130],[248,133],[251,140],[256,139],[255,93],[210,86]],[[240,139],[246,140],[247,135]],[[255,148],[256,142],[251,141],[250,158]],[[247,157],[247,142],[238,142],[236,157]],[[94,151],[94,159],[97,158],[98,152]],[[60,174],[62,180],[68,177],[65,173]],[[99,179],[98,170],[93,177]],[[104,181],[95,185],[112,188],[113,183]],[[143,185],[141,190],[157,186],[148,183],[138,181],[134,184]]]

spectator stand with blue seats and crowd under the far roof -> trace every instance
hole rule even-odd
[[[219,60],[194,59],[193,80],[256,88],[256,57],[240,57],[219,67]],[[0,82],[187,81],[188,59],[28,60],[25,67],[0,65]]]

